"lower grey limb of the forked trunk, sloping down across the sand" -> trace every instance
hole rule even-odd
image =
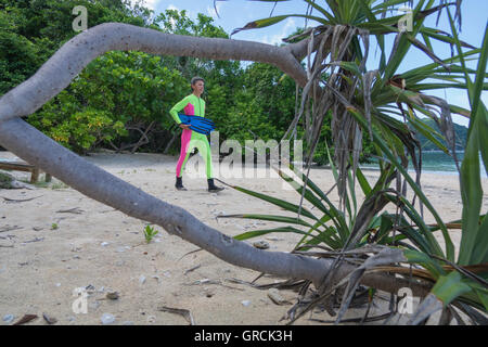
[[[310,280],[316,286],[332,266],[331,259],[260,250],[229,237],[183,208],[165,203],[87,162],[22,119],[0,123],[0,144],[82,194],[131,217],[158,224],[168,233],[229,264],[279,277]],[[355,269],[345,264],[337,269],[336,278],[344,278]],[[365,274],[361,283],[390,293],[397,293],[403,286],[411,287],[414,295],[428,293],[428,287],[378,273]]]

